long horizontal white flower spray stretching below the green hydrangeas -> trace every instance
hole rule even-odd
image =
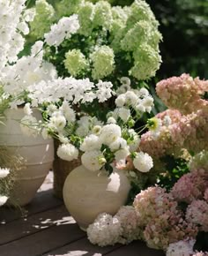
[[[42,103],[59,102],[61,98],[71,104],[93,102],[96,98],[99,98],[99,102],[105,102],[113,93],[111,87],[113,85],[110,82],[107,87],[106,82],[100,81],[99,84],[94,85],[89,79],[70,77],[65,79],[42,79],[41,82],[35,83],[27,89],[30,92],[29,97],[32,100],[32,105],[36,107]]]

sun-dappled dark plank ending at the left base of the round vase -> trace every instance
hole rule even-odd
[[[32,235],[43,229],[63,223],[75,222],[65,207],[56,207],[28,218],[21,218],[0,226],[0,245],[4,245],[21,237]]]

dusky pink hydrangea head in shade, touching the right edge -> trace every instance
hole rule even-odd
[[[208,173],[204,169],[196,169],[183,175],[172,188],[172,195],[177,201],[190,203],[203,199],[208,186]]]

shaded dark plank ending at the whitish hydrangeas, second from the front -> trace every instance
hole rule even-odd
[[[76,223],[61,222],[31,236],[0,246],[1,256],[37,256],[85,237]]]

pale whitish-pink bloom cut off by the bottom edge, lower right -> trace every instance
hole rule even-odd
[[[167,247],[167,256],[189,256],[194,254],[193,246],[195,244],[195,240],[189,241],[179,241],[173,244],[170,244]]]

